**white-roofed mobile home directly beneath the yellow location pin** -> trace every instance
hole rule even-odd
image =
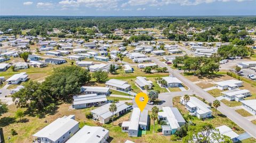
[[[129,137],[138,137],[139,130],[148,129],[148,111],[142,112],[138,107],[133,108],[130,121],[124,121],[122,123],[122,131],[128,132]]]

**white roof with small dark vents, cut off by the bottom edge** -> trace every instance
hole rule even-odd
[[[91,127],[85,125],[66,143],[99,143],[107,134],[108,130],[102,127]]]

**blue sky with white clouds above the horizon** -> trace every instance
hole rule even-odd
[[[256,0],[0,0],[0,15],[256,15]]]

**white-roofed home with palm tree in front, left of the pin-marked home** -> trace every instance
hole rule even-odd
[[[117,110],[114,112],[114,116],[116,117],[125,114],[132,108],[131,106],[126,105],[124,102],[118,102],[115,104]],[[109,111],[110,105],[111,103],[108,103],[92,110],[91,113],[93,114],[93,120],[98,120],[100,123],[103,124],[110,122],[113,114]]]

